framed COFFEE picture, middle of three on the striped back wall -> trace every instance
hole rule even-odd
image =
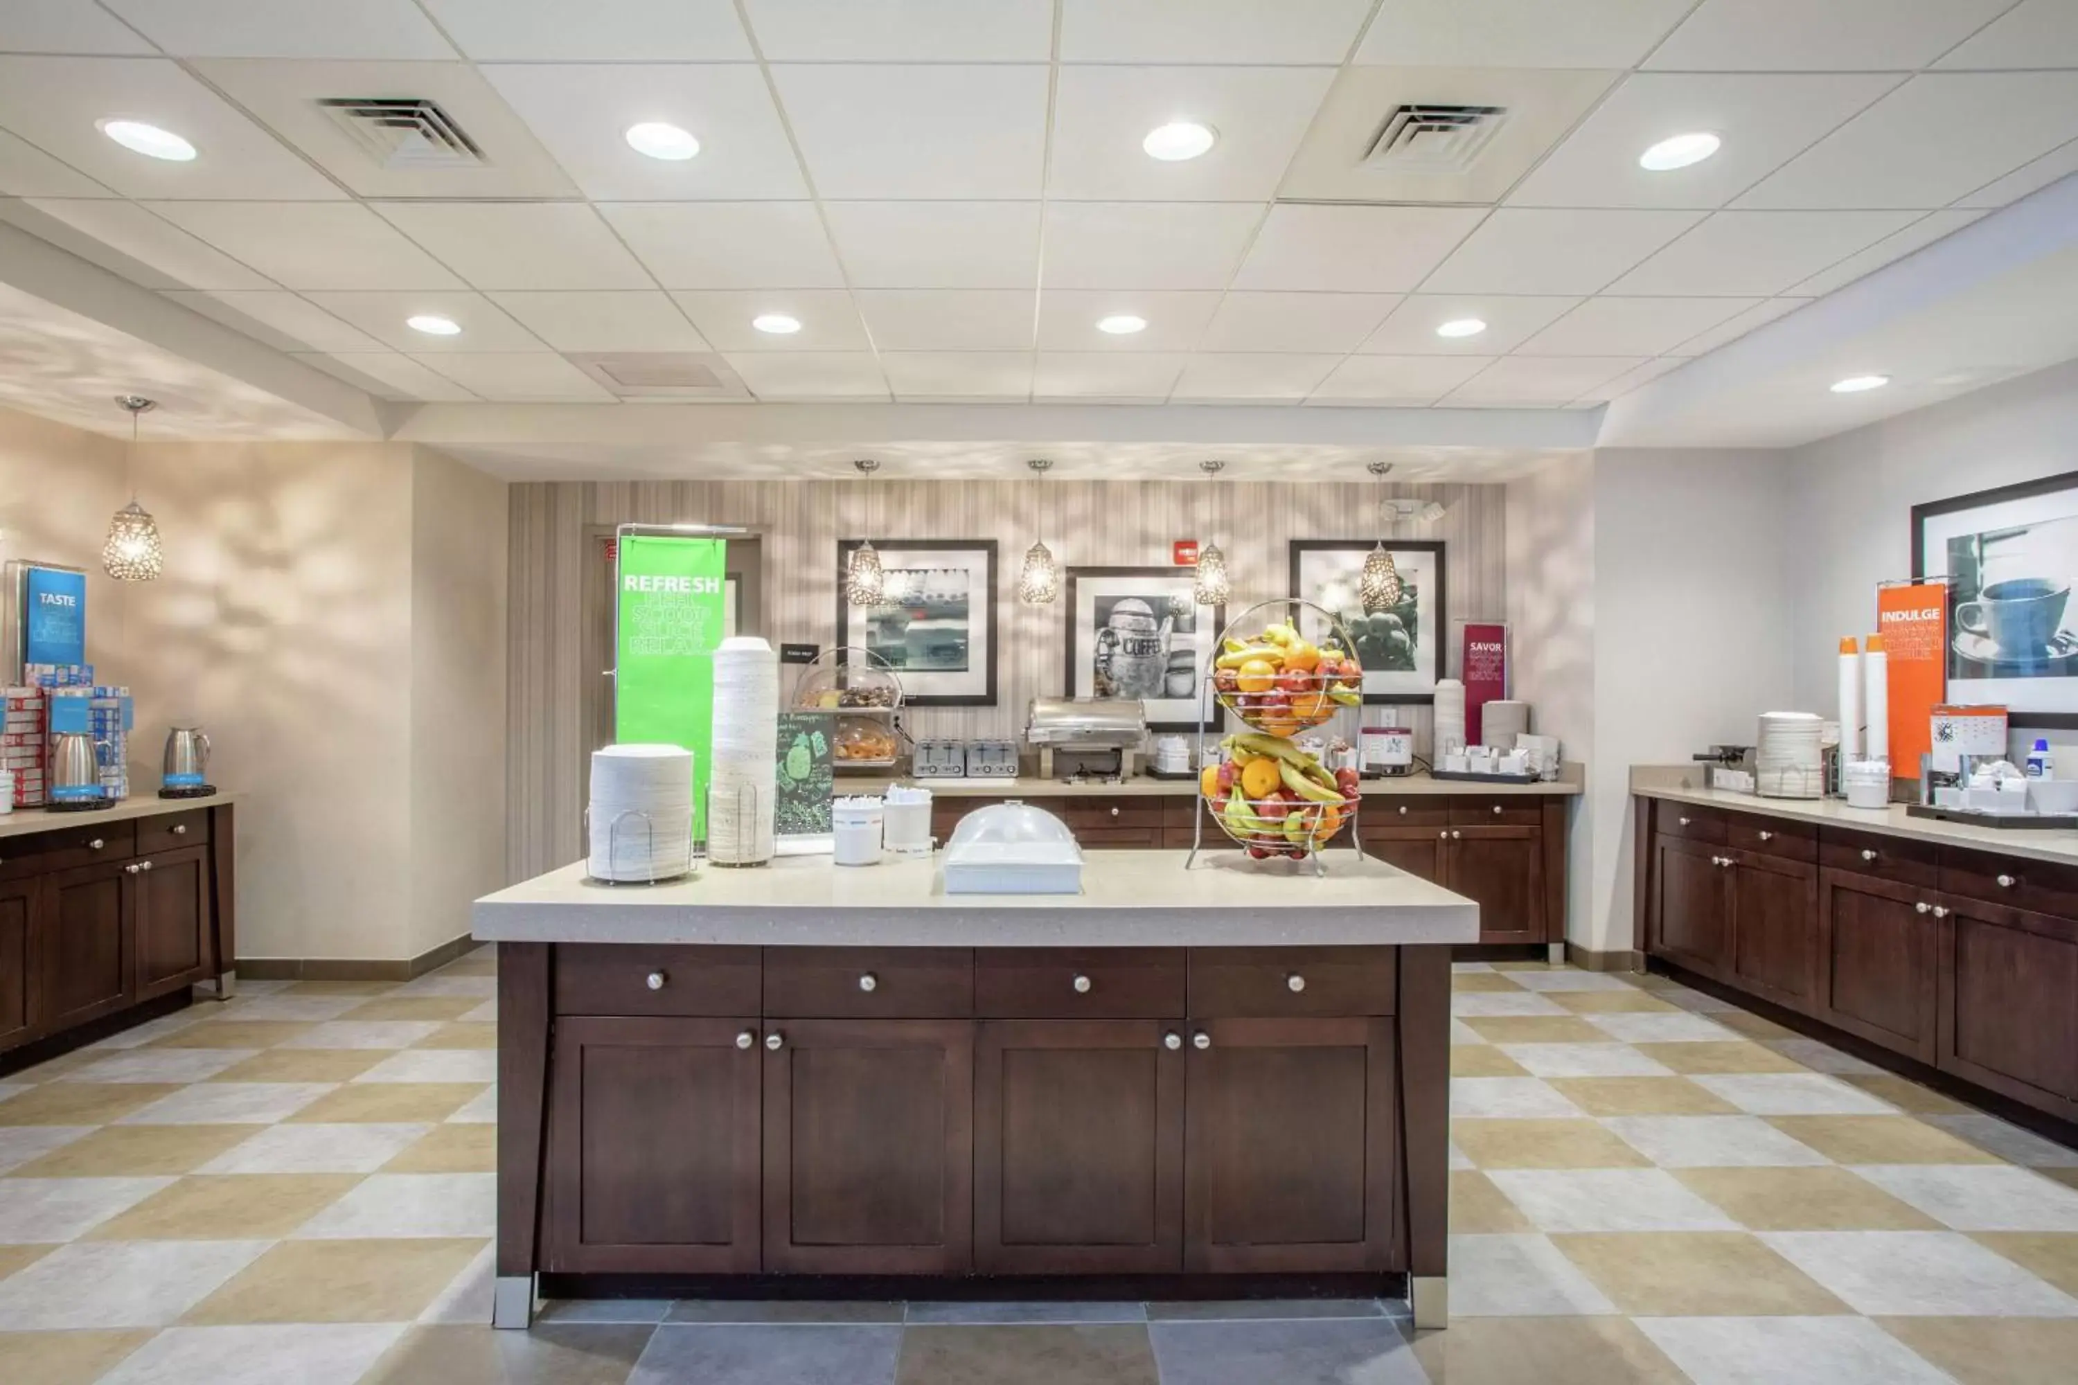
[[[1066,694],[1139,698],[1149,729],[1197,731],[1199,679],[1226,606],[1193,602],[1195,581],[1189,567],[1070,567]]]

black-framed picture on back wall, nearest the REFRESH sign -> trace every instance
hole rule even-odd
[[[995,706],[995,540],[875,544],[879,606],[854,606],[844,592],[860,544],[837,540],[837,644],[885,658],[910,706]]]

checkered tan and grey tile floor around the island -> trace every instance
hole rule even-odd
[[[1461,963],[1453,1329],[1394,1304],[551,1304],[492,988],[247,982],[0,1080],[0,1381],[2072,1381],[2078,1152],[1658,978]]]

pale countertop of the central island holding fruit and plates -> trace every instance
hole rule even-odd
[[[1480,905],[1349,847],[1311,862],[1241,851],[1089,851],[1081,895],[945,895],[939,858],[827,856],[598,885],[563,866],[476,901],[490,943],[758,947],[1257,947],[1475,943]]]

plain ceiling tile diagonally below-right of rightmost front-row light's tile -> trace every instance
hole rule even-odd
[[[1648,297],[1787,293],[1914,220],[1912,212],[1716,212],[1608,291]]]

